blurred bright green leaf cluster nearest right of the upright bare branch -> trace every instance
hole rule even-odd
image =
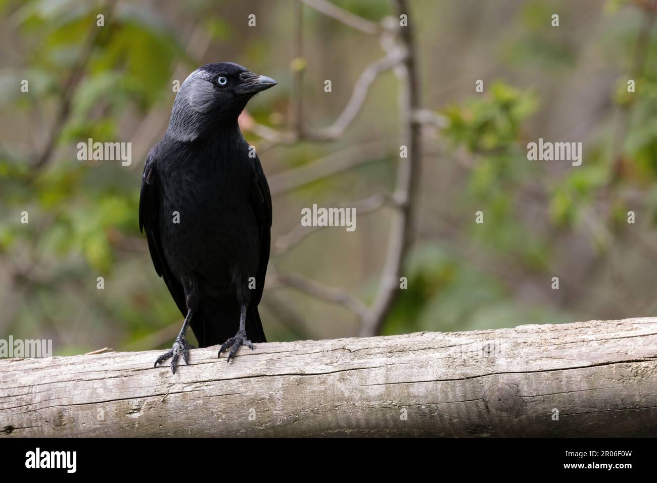
[[[475,225],[472,237],[514,254],[529,266],[544,268],[547,246],[522,224],[509,196],[538,171],[537,165],[527,162],[527,151],[520,145],[522,125],[537,108],[532,93],[496,81],[486,94],[447,108],[449,126],[443,134],[455,145],[463,144],[478,160],[462,200],[474,202],[473,213],[485,212],[484,223]]]

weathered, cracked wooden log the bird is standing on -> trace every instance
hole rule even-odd
[[[657,436],[657,318],[159,354],[0,361],[0,435]]]

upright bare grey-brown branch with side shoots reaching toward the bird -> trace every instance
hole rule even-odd
[[[397,12],[399,14],[408,14],[405,0],[397,0]],[[392,22],[391,22],[392,26]],[[297,139],[311,139],[315,141],[327,141],[340,137],[357,116],[361,109],[369,86],[376,77],[390,68],[395,68],[395,73],[402,83],[400,91],[400,112],[403,116],[403,145],[407,146],[408,157],[401,158],[397,166],[397,185],[396,191],[392,198],[397,208],[392,219],[392,228],[386,262],[381,276],[380,287],[374,298],[374,304],[371,310],[359,300],[352,298],[336,288],[325,287],[321,284],[302,279],[298,275],[279,275],[279,280],[286,285],[290,285],[303,290],[304,292],[321,298],[328,302],[341,304],[355,311],[361,318],[361,335],[370,336],[380,332],[382,324],[392,304],[399,292],[399,278],[401,275],[401,264],[405,254],[411,244],[412,224],[413,224],[413,200],[421,160],[421,127],[422,124],[443,125],[443,120],[433,114],[429,116],[429,111],[420,110],[419,108],[419,86],[418,76],[415,70],[414,44],[411,27],[395,27],[384,30],[381,35],[381,44],[388,52],[386,57],[380,58],[370,64],[361,74],[355,84],[353,93],[347,106],[342,111],[338,119],[328,127],[323,129],[307,129],[296,133],[280,133],[275,130],[265,130],[265,135],[273,143],[283,141],[295,142]],[[401,40],[401,46],[396,41],[396,37]],[[273,194],[284,193],[302,185],[306,185],[316,179],[331,175],[333,173],[351,168],[363,162],[363,157],[344,158],[338,153],[327,156],[324,160],[313,162],[308,166],[296,168],[290,172],[281,173],[278,177],[271,179]],[[335,158],[335,160],[333,160]],[[370,158],[371,159],[371,158]],[[328,161],[327,161],[328,160]],[[369,200],[376,204],[376,202]],[[286,239],[283,239],[279,250],[291,246],[295,242],[303,239],[310,231],[292,231]]]

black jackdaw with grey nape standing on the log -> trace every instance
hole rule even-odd
[[[146,159],[139,229],[155,270],[185,316],[171,357],[175,373],[191,325],[201,347],[266,342],[258,314],[269,262],[271,195],[237,118],[276,81],[232,62],[194,70],[173,101],[169,127]]]

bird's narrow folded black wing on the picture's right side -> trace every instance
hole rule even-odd
[[[271,245],[271,193],[265,172],[262,170],[258,156],[254,158],[254,181],[252,187],[251,202],[256,213],[258,229],[260,231],[260,263],[256,273],[256,289],[251,298],[251,304],[258,306],[265,286],[265,275],[269,263],[269,248]]]

